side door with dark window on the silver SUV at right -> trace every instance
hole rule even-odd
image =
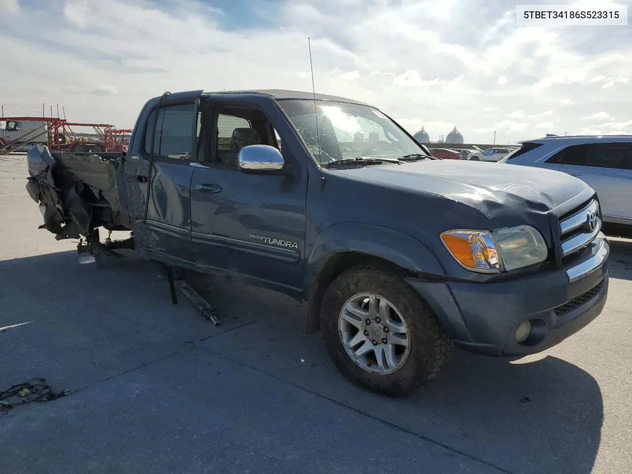
[[[632,143],[571,145],[547,162],[597,191],[604,221],[632,224]]]

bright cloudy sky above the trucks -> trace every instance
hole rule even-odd
[[[454,126],[466,143],[632,133],[632,21],[516,26],[516,4],[0,0],[0,104],[131,128],[166,90],[310,91],[310,37],[316,92],[368,102],[432,141]]]

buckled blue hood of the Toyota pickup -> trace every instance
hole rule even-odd
[[[480,161],[425,160],[337,173],[445,197],[487,217],[499,210],[511,213],[512,208],[548,212],[588,188],[580,179],[559,171]]]

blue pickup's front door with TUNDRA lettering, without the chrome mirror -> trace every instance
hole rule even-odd
[[[198,266],[301,288],[307,169],[283,145],[283,137],[279,144],[277,130],[283,131],[261,107],[221,102],[209,114],[214,132],[191,181],[191,240]],[[277,123],[281,117],[279,112]],[[291,172],[241,172],[239,150],[253,144],[279,148]]]

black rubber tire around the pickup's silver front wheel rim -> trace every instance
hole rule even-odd
[[[375,374],[347,354],[338,329],[344,303],[358,293],[374,293],[389,300],[408,327],[408,357],[391,374]],[[327,352],[340,372],[359,386],[389,396],[404,396],[432,379],[446,361],[450,339],[427,303],[397,271],[363,264],[336,277],[325,291],[320,327]]]

